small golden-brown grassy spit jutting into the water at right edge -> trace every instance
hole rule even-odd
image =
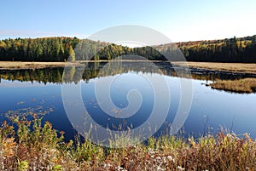
[[[211,83],[210,86],[212,88],[223,89],[225,91],[250,94],[256,92],[256,78],[222,80],[217,81],[216,83]]]

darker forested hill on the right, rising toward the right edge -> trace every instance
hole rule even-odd
[[[256,62],[256,35],[222,40],[176,43],[188,61]],[[172,44],[156,47],[160,52],[172,52]]]

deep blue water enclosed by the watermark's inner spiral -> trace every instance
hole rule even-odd
[[[137,128],[147,120],[153,109],[154,90],[148,80],[136,73],[119,75],[114,79],[112,86],[110,87],[111,100],[113,101],[113,104],[116,105],[116,108],[122,109],[129,105],[127,94],[132,89],[137,89],[143,96],[141,108],[139,108],[135,115],[125,119],[111,117],[101,110],[101,107],[96,101],[94,85],[95,82],[83,85],[82,94],[84,105],[96,123],[101,124],[105,128],[112,128],[112,126],[117,128],[120,125],[123,125],[124,127],[130,127],[132,125],[132,128]],[[108,88],[106,88],[106,91],[108,91]],[[116,112],[117,115],[122,115],[121,110],[116,110],[116,108],[113,108],[112,111]]]

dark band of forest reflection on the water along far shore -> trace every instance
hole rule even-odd
[[[155,66],[154,66],[155,65]],[[183,72],[184,68],[175,69],[169,63],[153,63],[147,61],[113,61],[113,62],[90,62],[85,69],[81,66],[67,67],[65,72],[66,83],[79,83],[84,80],[86,83],[96,77],[114,76],[129,71],[142,73],[160,73],[172,77],[190,77],[188,72]],[[44,69],[26,69],[26,70],[1,70],[0,78],[20,82],[38,82],[38,83],[61,83],[63,67],[51,67]],[[177,74],[178,72],[178,74]],[[234,74],[223,71],[191,70],[191,76],[198,80],[215,81],[218,79],[229,80],[245,77],[256,77],[249,74]],[[1,79],[0,79],[1,82]]]

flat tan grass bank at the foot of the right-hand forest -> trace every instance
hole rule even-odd
[[[201,68],[216,71],[230,71],[237,73],[250,73],[256,74],[256,64],[243,64],[243,63],[217,63],[217,62],[173,62],[177,66],[186,66],[192,68]]]

